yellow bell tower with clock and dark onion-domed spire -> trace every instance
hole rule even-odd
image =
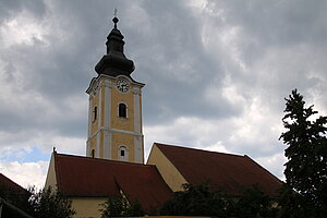
[[[86,156],[129,162],[144,162],[142,87],[131,77],[135,70],[124,55],[123,35],[117,27],[107,37],[107,53],[95,66],[97,77],[89,95]]]

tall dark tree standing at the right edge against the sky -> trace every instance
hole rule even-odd
[[[286,204],[290,202],[283,193],[281,208],[287,211],[287,207],[292,205],[293,210],[302,211],[299,216],[322,217],[327,213],[327,117],[315,119],[317,111],[313,110],[313,106],[305,108],[303,96],[296,89],[286,98],[284,112],[282,122],[287,131],[280,136],[288,145],[284,175],[289,189],[284,187],[284,192],[289,197],[298,194],[298,201]],[[282,214],[283,217],[292,217]]]

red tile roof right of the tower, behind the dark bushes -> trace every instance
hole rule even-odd
[[[189,183],[209,185],[233,195],[254,184],[275,195],[281,181],[245,156],[207,152],[155,143]]]

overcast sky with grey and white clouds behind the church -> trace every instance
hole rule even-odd
[[[85,93],[118,9],[154,142],[247,155],[283,178],[284,97],[327,113],[327,1],[0,0],[0,172],[43,186],[85,155]]]

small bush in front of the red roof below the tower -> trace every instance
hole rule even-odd
[[[124,196],[110,196],[104,204],[100,204],[104,208],[100,209],[101,218],[108,217],[142,217],[144,210],[140,202],[130,204]]]

